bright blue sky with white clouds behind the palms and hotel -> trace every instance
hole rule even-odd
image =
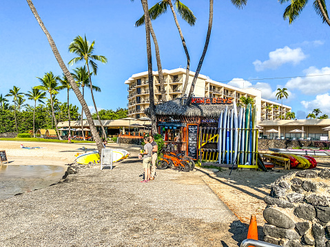
[[[78,35],[95,41],[94,54],[107,57],[107,63],[98,63],[98,73],[92,77],[93,85],[102,89],[94,93],[97,107],[126,107],[125,80],[147,71],[145,27],[134,27],[143,14],[141,1],[33,2],[65,63],[75,57],[68,52],[68,45]],[[149,0],[149,8],[156,2]],[[191,58],[190,69],[195,71],[207,33],[209,1],[182,2],[197,18],[191,27],[178,17]],[[243,9],[229,0],[214,1],[212,34],[200,74],[236,87],[255,87],[262,90],[262,98],[274,101],[276,89],[286,87],[289,97],[283,104],[291,106],[297,118],[306,118],[315,108],[330,116],[330,27],[322,23],[312,2],[291,25],[282,18],[286,7],[276,0],[247,1]],[[185,67],[187,60],[172,13],[168,10],[153,21],[153,27],[163,69]],[[40,85],[37,77],[46,72],[62,75],[26,1],[1,5],[0,36],[0,94],[8,94],[14,85],[28,92]],[[80,66],[83,62],[68,68],[72,71]],[[157,70],[154,56],[153,69]],[[64,91],[57,95],[61,102],[66,97]],[[94,109],[90,94],[85,99]],[[79,106],[73,92],[70,100]]]

